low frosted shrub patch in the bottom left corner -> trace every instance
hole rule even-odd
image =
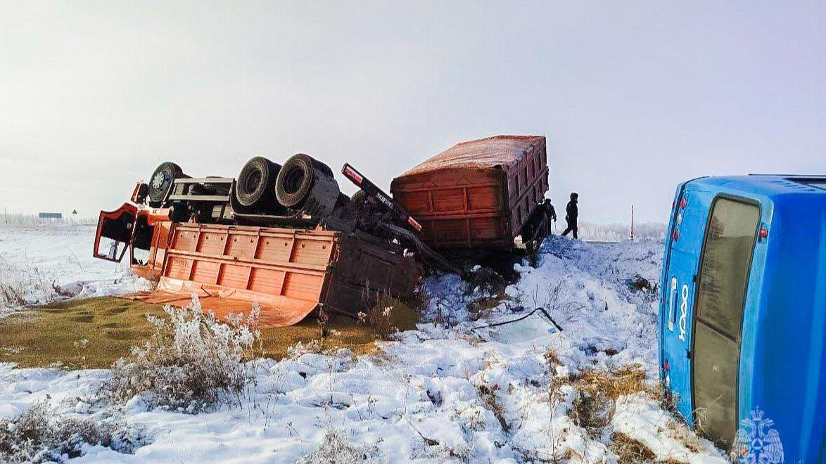
[[[45,401],[12,419],[0,420],[2,462],[64,462],[66,457],[82,456],[87,445],[131,453],[142,444],[143,438],[122,422],[68,417]]]

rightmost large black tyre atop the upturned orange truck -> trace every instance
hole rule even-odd
[[[332,169],[306,154],[287,159],[275,181],[279,203],[319,218],[333,212],[339,193]]]

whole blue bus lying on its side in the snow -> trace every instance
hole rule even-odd
[[[826,463],[826,177],[682,183],[660,288],[686,421],[737,462]]]

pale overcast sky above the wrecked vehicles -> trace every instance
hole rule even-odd
[[[545,135],[589,222],[665,221],[700,175],[826,174],[826,2],[677,3],[0,0],[0,208],[97,215],[163,161],[258,154],[387,188],[497,134]]]

